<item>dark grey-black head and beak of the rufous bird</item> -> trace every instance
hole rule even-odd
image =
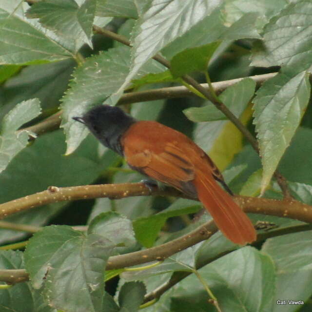
[[[120,138],[136,122],[136,119],[125,114],[119,107],[99,105],[86,112],[82,117],[73,117],[94,134],[106,147],[123,155]]]

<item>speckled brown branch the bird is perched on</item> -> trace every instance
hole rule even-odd
[[[171,187],[167,187],[165,190],[159,190],[155,187],[150,191],[144,183],[97,184],[63,188],[50,186],[45,191],[0,204],[0,218],[59,201],[93,199],[99,197],[120,199],[129,196],[146,195],[190,198]],[[276,215],[298,219],[304,222],[312,222],[312,206],[292,198],[277,200],[234,196],[234,200],[248,213]]]

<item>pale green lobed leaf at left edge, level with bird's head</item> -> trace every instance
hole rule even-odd
[[[0,172],[28,143],[29,131],[16,130],[41,112],[37,98],[21,102],[3,118],[0,129]]]

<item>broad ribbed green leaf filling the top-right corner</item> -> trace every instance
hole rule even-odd
[[[263,47],[254,51],[252,65],[289,65],[296,73],[311,68],[312,2],[290,3],[264,28]]]

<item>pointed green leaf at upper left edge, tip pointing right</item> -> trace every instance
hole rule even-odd
[[[0,64],[32,64],[72,58],[48,32],[0,8]]]

